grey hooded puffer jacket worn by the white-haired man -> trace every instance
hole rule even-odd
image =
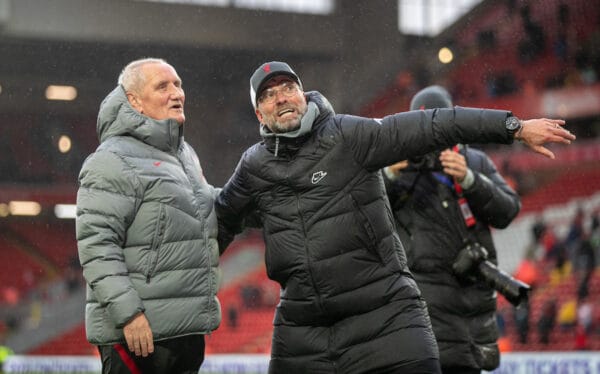
[[[183,126],[141,115],[118,86],[100,106],[97,131],[77,193],[88,340],[125,342],[123,326],[139,312],[154,340],[210,333],[221,321],[218,191]]]

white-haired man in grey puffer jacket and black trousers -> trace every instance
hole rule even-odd
[[[147,58],[100,105],[76,233],[103,373],[197,373],[221,320],[216,190],[184,141],[184,103],[175,69]]]

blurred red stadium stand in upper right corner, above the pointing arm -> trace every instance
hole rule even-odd
[[[593,2],[571,1],[567,5],[568,19],[562,24],[557,22],[561,4],[565,3],[559,0],[485,2],[483,11],[476,18],[459,20],[452,30],[440,37],[451,40],[457,53],[449,67],[435,72],[435,80],[446,85],[460,105],[510,108],[524,117],[539,115],[532,101],[535,102],[535,97],[540,97],[545,90],[592,84],[575,78],[580,75],[580,70],[589,67],[581,60],[582,56],[586,56],[585,61],[591,58],[587,57],[588,49],[594,48],[592,38],[598,37],[600,9]],[[530,9],[532,22],[543,24],[543,41],[539,46],[540,53],[524,62],[519,43],[526,34],[520,14],[525,5]],[[561,39],[562,28],[568,32],[565,40]],[[492,36],[482,37],[486,34]],[[567,42],[569,45],[564,46],[567,55],[563,58],[557,51],[557,44]],[[410,98],[418,89],[415,86],[417,75],[416,71],[410,70],[398,72],[397,78],[367,103],[361,114],[381,117],[407,110]],[[597,77],[597,71],[595,75]],[[429,82],[432,83],[436,82]]]

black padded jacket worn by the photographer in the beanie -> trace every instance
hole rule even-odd
[[[422,161],[409,163],[386,184],[408,266],[427,302],[442,367],[491,370],[499,364],[494,290],[483,281],[459,280],[452,263],[465,237],[470,237],[497,264],[490,227],[506,227],[521,203],[485,153],[470,147],[461,147],[460,152],[474,175],[473,185],[463,190],[476,219],[471,228],[465,224],[456,188],[444,181],[440,170],[431,170]]]

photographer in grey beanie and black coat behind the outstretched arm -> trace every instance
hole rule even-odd
[[[452,107],[443,87],[429,86],[413,97],[410,109]],[[515,284],[495,268],[489,227],[508,226],[520,210],[518,195],[489,157],[460,144],[401,161],[384,174],[409,268],[427,302],[443,373],[495,369],[500,361],[496,294],[484,278],[493,270],[494,281]],[[479,264],[486,264],[485,270],[478,271]],[[514,302],[526,297],[520,286],[527,285],[516,284]]]

